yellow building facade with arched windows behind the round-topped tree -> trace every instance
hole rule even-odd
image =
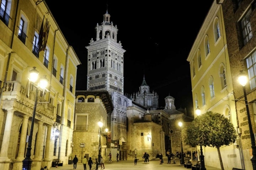
[[[201,114],[207,111],[222,113],[236,128],[235,97],[224,27],[222,7],[213,1],[187,61],[190,62],[194,113],[197,107]],[[241,168],[239,139],[237,143],[220,148],[220,152],[225,169]],[[199,153],[198,148],[198,157]],[[203,147],[203,155],[205,165],[220,168],[217,148]]]

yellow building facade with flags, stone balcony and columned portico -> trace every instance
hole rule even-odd
[[[49,168],[53,159],[67,164],[81,62],[44,1],[2,1],[0,10],[0,169],[22,169],[31,129],[31,170]],[[34,67],[48,79],[37,102],[28,79]]]

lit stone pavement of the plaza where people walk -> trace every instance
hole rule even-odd
[[[137,165],[134,165],[133,161],[120,160],[119,162],[112,161],[111,163],[104,163],[104,170],[156,170],[156,169],[171,169],[171,170],[186,170],[184,165],[180,164],[180,161],[177,160],[176,164],[173,164],[173,160],[171,164],[167,164],[167,160],[164,160],[164,163],[159,165],[159,159],[150,160],[148,164],[144,163],[143,159],[139,159]],[[186,163],[187,161],[185,161]],[[196,161],[193,161],[192,164],[196,164]],[[91,170],[95,170],[96,165],[92,166]],[[189,168],[191,169],[191,168]],[[49,170],[73,170],[73,165],[64,165],[58,166],[58,168],[51,167]],[[76,166],[76,170],[84,170],[84,166],[82,163],[78,163]],[[86,164],[86,170],[90,170],[88,164]],[[98,170],[101,170],[101,166],[98,166]],[[214,168],[211,166],[206,166],[206,170],[220,170],[219,168]]]

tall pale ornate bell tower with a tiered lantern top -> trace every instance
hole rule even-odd
[[[90,40],[87,49],[87,90],[118,91],[123,95],[123,54],[121,42],[117,42],[117,26],[110,22],[108,11],[101,25],[97,23],[96,41]]]

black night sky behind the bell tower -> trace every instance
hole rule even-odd
[[[91,38],[96,40],[95,27],[108,10],[110,21],[118,28],[117,40],[126,50],[124,94],[137,92],[145,75],[150,90],[159,94],[159,106],[164,106],[164,98],[170,95],[176,109],[193,110],[186,59],[213,1],[45,1],[82,63],[76,90],[86,90],[85,46]]]

